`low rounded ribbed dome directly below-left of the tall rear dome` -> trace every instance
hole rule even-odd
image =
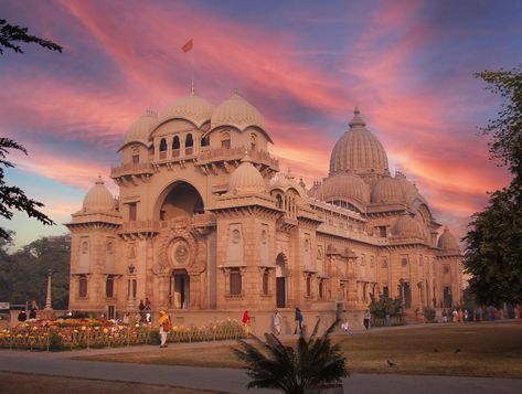
[[[370,203],[370,187],[359,177],[340,173],[328,177],[313,192],[322,201],[345,200],[355,202],[360,211]]]

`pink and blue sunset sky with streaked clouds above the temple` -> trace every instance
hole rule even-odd
[[[63,45],[0,56],[0,136],[29,157],[8,183],[66,223],[97,174],[108,179],[128,126],[147,108],[239,89],[259,109],[284,171],[328,174],[359,106],[392,171],[415,181],[439,223],[462,236],[509,174],[478,134],[499,97],[473,77],[522,63],[521,1],[19,1],[0,19]],[[181,46],[193,38],[194,47]],[[17,246],[63,234],[23,214],[0,225]]]

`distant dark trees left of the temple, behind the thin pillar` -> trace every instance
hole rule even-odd
[[[8,241],[0,239],[0,301],[25,304],[35,299],[42,308],[51,269],[53,308],[67,309],[71,237],[41,237],[11,254],[8,247]]]

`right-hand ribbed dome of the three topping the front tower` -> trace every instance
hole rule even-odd
[[[234,93],[231,98],[223,102],[212,114],[211,128],[219,126],[234,126],[241,131],[248,126],[257,126],[265,130],[263,115],[243,96]]]

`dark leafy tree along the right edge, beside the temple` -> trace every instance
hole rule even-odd
[[[482,304],[522,301],[522,73],[520,70],[481,72],[488,89],[504,103],[497,119],[482,132],[491,136],[490,152],[513,175],[508,188],[490,195],[482,212],[472,215],[465,267],[470,288]]]

